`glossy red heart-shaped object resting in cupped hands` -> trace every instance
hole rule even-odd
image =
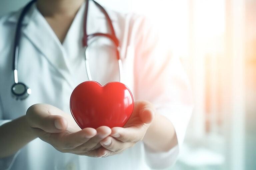
[[[70,111],[81,129],[123,127],[133,107],[131,91],[120,82],[109,82],[101,86],[96,81],[85,81],[70,96]]]

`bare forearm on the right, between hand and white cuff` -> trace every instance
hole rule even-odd
[[[148,128],[143,142],[154,151],[169,151],[178,143],[172,123],[159,114]]]

